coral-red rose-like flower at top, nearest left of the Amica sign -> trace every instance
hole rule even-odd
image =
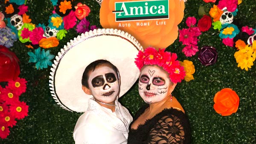
[[[75,11],[76,17],[79,20],[84,19],[90,13],[90,8],[86,4],[78,3],[75,6],[75,9],[76,9],[76,11]]]

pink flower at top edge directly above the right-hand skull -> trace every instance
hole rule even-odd
[[[237,8],[238,0],[220,0],[218,3],[218,8],[223,9],[227,7],[229,12],[234,12]]]

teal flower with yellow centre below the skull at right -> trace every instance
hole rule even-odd
[[[221,39],[227,38],[227,37],[233,38],[240,32],[238,27],[236,25],[232,24],[232,23],[223,24],[221,29],[222,30],[219,34],[219,37],[221,37]]]

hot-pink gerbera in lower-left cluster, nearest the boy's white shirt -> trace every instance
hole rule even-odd
[[[25,118],[28,115],[29,106],[25,102],[17,101],[15,104],[10,106],[10,113],[15,116],[18,120]]]

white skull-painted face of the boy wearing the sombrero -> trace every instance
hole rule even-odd
[[[97,101],[108,104],[116,100],[119,93],[119,82],[116,72],[110,66],[97,66],[88,75],[89,89]]]

